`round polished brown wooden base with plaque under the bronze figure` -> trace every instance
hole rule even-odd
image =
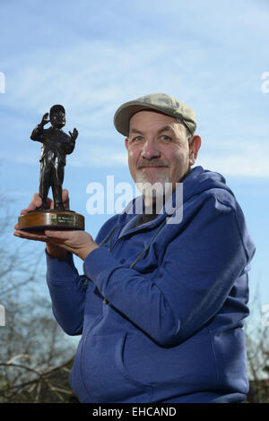
[[[31,211],[18,218],[19,229],[41,231],[44,229],[84,229],[84,217],[74,211]]]

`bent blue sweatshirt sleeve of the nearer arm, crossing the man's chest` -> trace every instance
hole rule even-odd
[[[104,247],[93,250],[83,268],[111,305],[167,346],[217,314],[246,262],[235,210],[212,196],[169,243],[153,280]]]

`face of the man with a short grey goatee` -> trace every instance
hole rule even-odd
[[[201,139],[193,138],[192,152],[186,128],[176,118],[153,110],[140,111],[130,119],[126,139],[128,164],[135,183],[172,183],[176,188],[195,163]]]

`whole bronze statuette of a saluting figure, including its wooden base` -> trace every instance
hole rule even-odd
[[[44,126],[51,123],[51,127]],[[42,143],[40,161],[39,196],[42,205],[18,218],[19,229],[42,231],[44,229],[84,229],[84,217],[67,210],[62,199],[62,185],[65,175],[65,156],[74,150],[78,131],[74,128],[69,135],[63,132],[65,108],[55,105],[43,117],[30,135],[32,141]],[[54,209],[47,209],[48,191],[52,189]]]

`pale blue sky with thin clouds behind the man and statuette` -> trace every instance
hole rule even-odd
[[[258,285],[269,304],[269,2],[1,0],[0,19],[0,187],[14,223],[39,190],[30,133],[52,105],[65,107],[65,132],[79,132],[64,187],[95,237],[111,214],[87,212],[87,185],[132,183],[114,113],[165,92],[195,109],[195,165],[221,173],[235,193],[256,244],[250,290]]]

